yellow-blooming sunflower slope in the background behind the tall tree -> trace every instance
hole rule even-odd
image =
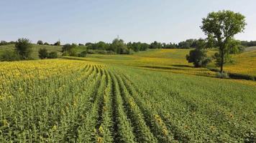
[[[72,57],[70,59],[83,59],[110,64],[125,64],[129,66],[139,66],[150,70],[215,77],[216,72],[206,68],[194,68],[193,64],[186,61],[186,54],[188,54],[190,50],[191,49],[149,49],[132,55],[89,54],[86,58]],[[216,49],[211,49],[208,51],[208,54],[211,56],[215,52]],[[224,70],[229,73],[256,76],[255,57],[255,50],[244,51],[242,54],[234,54],[232,56],[234,63],[225,65]],[[216,68],[214,61],[212,61],[209,66],[211,68]]]

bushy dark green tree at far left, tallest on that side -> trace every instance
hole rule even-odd
[[[29,39],[18,39],[15,48],[21,59],[31,59],[32,44]]]

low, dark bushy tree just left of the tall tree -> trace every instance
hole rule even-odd
[[[198,46],[196,49],[189,51],[189,54],[186,55],[188,63],[193,63],[195,67],[205,67],[211,59],[207,57],[206,54],[206,42],[204,39],[198,41]]]

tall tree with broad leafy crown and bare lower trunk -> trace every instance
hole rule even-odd
[[[209,41],[219,48],[219,66],[223,71],[224,58],[232,48],[230,42],[234,35],[244,31],[245,16],[233,11],[211,12],[203,18],[201,29],[208,36]]]

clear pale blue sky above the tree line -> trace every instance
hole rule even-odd
[[[241,40],[256,40],[255,0],[1,0],[0,40],[26,37],[53,43],[178,42],[204,38],[199,26],[211,11],[239,11],[247,26]]]

